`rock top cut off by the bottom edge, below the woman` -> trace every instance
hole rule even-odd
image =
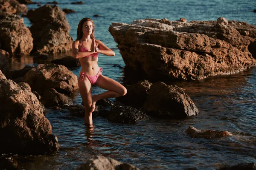
[[[122,163],[115,159],[106,158],[104,156],[96,156],[89,159],[86,164],[82,164],[78,170],[139,170],[128,163]]]

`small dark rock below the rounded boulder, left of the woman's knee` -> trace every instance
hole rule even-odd
[[[47,89],[41,98],[41,103],[49,108],[52,106],[71,106],[74,102],[70,97],[58,93],[54,88]]]

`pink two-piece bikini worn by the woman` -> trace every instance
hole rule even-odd
[[[81,45],[81,48],[80,48],[80,51],[79,52],[87,52],[87,51],[89,51],[87,48],[84,48],[83,47],[83,42],[81,41],[81,43],[82,43],[82,45]],[[97,47],[96,47],[97,48]],[[97,48],[98,49],[98,48]],[[93,54],[90,54],[90,55],[87,55],[87,56],[85,56],[86,58],[87,57],[90,57],[90,56],[93,56],[93,57],[95,57],[95,58],[97,58],[98,56],[99,56],[99,53],[97,53],[97,52],[94,52]],[[100,67],[99,68],[99,71],[98,71],[98,73],[95,75],[95,76],[88,76],[87,74],[85,74],[84,72],[81,72],[81,74],[80,74],[80,76],[79,76],[79,78],[78,79],[80,79],[80,77],[83,77],[82,79],[81,79],[81,81],[84,79],[84,75],[87,77],[87,79],[90,81],[90,83],[92,84],[92,85],[94,85],[95,83],[96,83],[96,81],[97,81],[97,79],[98,79],[98,77],[99,77],[99,75],[100,74],[102,74],[102,67]]]

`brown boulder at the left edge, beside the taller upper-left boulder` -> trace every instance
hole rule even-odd
[[[9,54],[29,54],[33,48],[33,38],[23,18],[10,15],[0,20],[0,43]]]

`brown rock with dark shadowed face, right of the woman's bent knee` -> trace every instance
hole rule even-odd
[[[198,108],[182,88],[163,82],[151,85],[144,108],[148,113],[163,118],[185,118],[198,114]]]

